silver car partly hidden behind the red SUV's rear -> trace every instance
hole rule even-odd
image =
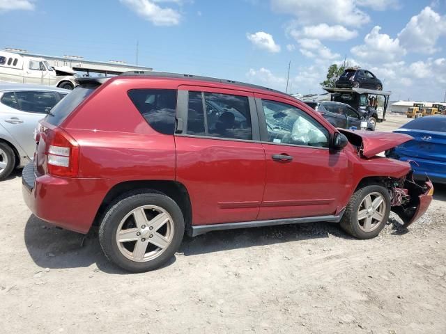
[[[0,180],[33,159],[39,120],[70,90],[0,83]]]

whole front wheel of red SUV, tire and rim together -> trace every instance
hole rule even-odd
[[[369,212],[367,211],[367,197],[370,198],[371,205],[377,198],[380,198],[382,202],[376,207],[376,210],[371,209]],[[358,214],[364,218],[358,219]],[[390,194],[387,189],[378,184],[362,186],[353,193],[340,224],[344,231],[357,239],[372,239],[383,230],[389,219],[389,214]],[[377,219],[377,216],[380,218]],[[369,218],[371,218],[370,225],[367,225]]]

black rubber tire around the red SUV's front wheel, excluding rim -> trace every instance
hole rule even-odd
[[[353,234],[355,234],[355,237],[357,237],[359,239],[372,239],[372,238],[376,237],[381,232],[381,230],[383,230],[383,228],[385,227],[385,224],[387,223],[387,221],[389,219],[390,194],[387,191],[387,189],[385,189],[385,187],[379,186],[379,185],[364,186],[359,191],[360,191],[360,195],[357,196],[355,198],[355,200],[353,200],[353,202],[351,203],[353,206],[353,209],[352,209],[351,216],[350,216],[350,226],[351,226]],[[363,230],[361,230],[359,222],[357,221],[357,209],[360,206],[362,200],[364,200],[364,198],[367,195],[369,195],[369,193],[380,193],[381,195],[383,195],[383,198],[385,200],[385,205],[386,205],[385,206],[386,212],[384,215],[384,219],[380,223],[378,228],[376,228],[375,230],[373,230],[371,232],[364,232]]]

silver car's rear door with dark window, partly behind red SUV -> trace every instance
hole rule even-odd
[[[58,93],[45,91],[6,92],[0,98],[0,122],[20,144],[26,155],[33,159],[36,142],[33,138],[38,121],[59,102]]]

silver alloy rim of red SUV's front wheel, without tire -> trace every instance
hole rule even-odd
[[[385,217],[385,198],[381,193],[369,193],[362,200],[357,209],[357,222],[364,232],[371,232],[378,228]]]

